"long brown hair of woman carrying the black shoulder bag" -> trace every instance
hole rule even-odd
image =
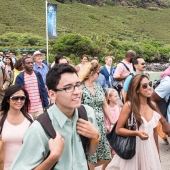
[[[134,114],[134,117],[136,118],[138,127],[143,123],[143,120],[140,115],[140,100],[139,100],[140,94],[137,93],[140,88],[141,81],[143,80],[143,78],[148,79],[146,75],[138,74],[134,76],[129,84],[129,88],[128,88],[127,95],[126,95],[126,101],[129,101],[131,103],[131,110]],[[151,102],[150,97],[147,97],[147,104],[149,105],[151,109],[156,111],[154,105]]]

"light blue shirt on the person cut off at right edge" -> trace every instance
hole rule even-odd
[[[160,97],[164,98],[166,102],[169,99],[170,95],[170,77],[166,76],[164,79],[161,80],[161,83],[156,87],[155,93]],[[167,121],[170,123],[170,104],[168,105],[167,109]]]

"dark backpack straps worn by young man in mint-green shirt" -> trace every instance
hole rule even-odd
[[[85,110],[83,105],[81,105],[78,108],[78,116],[79,116],[79,118],[88,121],[87,113],[86,113],[86,110]],[[54,128],[52,126],[51,119],[50,119],[50,117],[47,113],[47,110],[43,114],[41,114],[36,120],[41,124],[44,131],[47,133],[47,135],[50,138],[54,139],[56,137],[56,131],[54,130]],[[81,138],[82,146],[83,146],[83,149],[84,149],[84,154],[85,154],[86,160],[87,160],[87,149],[88,149],[88,145],[89,145],[89,138],[82,136],[82,135],[80,135],[80,138]],[[49,154],[50,154],[50,151],[49,151],[47,157],[49,156]],[[57,162],[56,162],[56,164],[57,164]],[[52,167],[51,170],[54,169],[55,165]]]

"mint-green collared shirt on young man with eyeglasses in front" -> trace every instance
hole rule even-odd
[[[88,120],[98,129],[93,109],[84,105]],[[64,138],[64,150],[55,165],[55,170],[88,170],[87,161],[81,139],[76,131],[78,111],[75,109],[72,121],[68,119],[54,104],[48,109],[49,117],[55,130]],[[49,137],[38,121],[28,128],[24,134],[23,145],[17,154],[11,170],[31,170],[46,158]]]

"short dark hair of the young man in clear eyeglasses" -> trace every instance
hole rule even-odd
[[[46,84],[48,90],[56,89],[56,86],[58,85],[61,79],[61,75],[64,73],[75,73],[77,75],[76,69],[67,63],[55,65],[53,68],[49,70],[46,76]]]

